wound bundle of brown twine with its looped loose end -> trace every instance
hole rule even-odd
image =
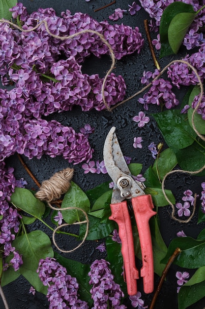
[[[82,246],[82,244],[86,240],[86,237],[88,236],[88,222],[89,222],[89,220],[88,220],[88,215],[87,215],[87,213],[84,209],[78,208],[78,207],[56,208],[56,207],[52,206],[52,204],[51,204],[52,201],[59,199],[62,194],[66,193],[68,191],[68,189],[70,188],[70,181],[73,177],[73,173],[74,173],[74,170],[72,168],[69,168],[69,167],[63,169],[62,171],[55,173],[50,179],[43,181],[39,191],[35,193],[36,198],[39,198],[42,201],[46,201],[48,203],[49,207],[54,209],[54,210],[58,210],[58,211],[59,210],[60,211],[64,211],[64,210],[76,210],[76,211],[78,211],[79,210],[79,211],[82,211],[84,216],[86,217],[85,221],[73,223],[73,225],[79,225],[79,224],[86,223],[87,228],[86,228],[86,233],[85,233],[85,236],[84,236],[82,242],[77,247],[75,247],[71,250],[60,249],[59,246],[57,245],[56,240],[55,240],[56,232],[59,231],[59,229],[61,229],[62,227],[70,226],[70,224],[68,224],[68,223],[60,224],[54,230],[53,236],[52,236],[54,245],[57,247],[57,249],[59,249],[59,251],[61,251],[63,253],[70,253],[70,252],[73,252],[76,249],[78,249],[80,246]]]

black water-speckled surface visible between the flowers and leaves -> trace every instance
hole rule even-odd
[[[69,9],[72,14],[75,12],[83,12],[88,13],[93,16],[98,21],[103,21],[108,19],[108,16],[111,15],[114,10],[118,7],[121,9],[128,10],[128,4],[132,4],[132,0],[117,0],[117,3],[102,9],[98,12],[94,12],[94,9],[99,8],[105,4],[109,3],[109,0],[90,0],[86,2],[85,0],[62,0],[62,1],[54,1],[54,0],[25,0],[22,1],[23,4],[27,7],[29,13],[37,10],[39,7],[53,7],[57,15],[60,15],[62,11]],[[142,84],[140,82],[143,72],[146,71],[154,71],[155,67],[153,64],[153,60],[151,58],[150,50],[148,48],[148,43],[146,40],[146,34],[144,29],[144,19],[150,19],[148,14],[142,8],[136,15],[131,16],[130,14],[124,14],[122,20],[118,20],[117,22],[110,21],[111,24],[125,24],[130,25],[132,27],[138,26],[140,28],[140,32],[145,39],[144,48],[141,53],[138,55],[137,52],[125,56],[120,61],[117,61],[116,68],[114,73],[116,75],[122,75],[125,79],[127,85],[126,97],[134,94],[142,88]],[[156,37],[156,34],[151,34],[152,38]],[[165,67],[170,61],[176,58],[181,58],[185,55],[186,51],[181,50],[181,53],[175,56],[164,57],[159,61],[161,68]],[[156,53],[158,56],[158,53]],[[158,57],[159,59],[159,57]],[[86,59],[83,64],[83,72],[88,74],[98,73],[100,77],[105,76],[107,70],[110,68],[110,58],[108,56],[102,57],[100,60],[95,58],[94,56]],[[166,77],[165,77],[166,78]],[[177,89],[174,90],[176,96],[179,100],[183,97],[187,88],[182,87],[180,91]],[[157,128],[156,122],[152,118],[152,116],[148,115],[150,113],[160,112],[160,108],[156,106],[150,106],[149,111],[146,113],[150,117],[150,122],[146,124],[143,128],[138,128],[137,123],[135,123],[132,118],[135,115],[138,115],[140,111],[143,111],[143,106],[138,103],[137,98],[130,100],[124,105],[116,108],[112,113],[108,111],[97,112],[92,110],[90,112],[82,112],[79,107],[75,107],[71,112],[63,112],[63,113],[55,113],[48,117],[47,120],[56,119],[60,123],[66,126],[73,127],[76,132],[79,132],[79,128],[83,127],[86,123],[89,123],[92,127],[94,127],[95,131],[90,135],[89,141],[94,149],[93,160],[102,160],[103,159],[103,144],[105,140],[105,136],[109,132],[110,128],[114,125],[117,127],[117,136],[119,143],[121,145],[121,149],[124,155],[132,157],[132,162],[142,163],[143,164],[143,172],[153,163],[154,159],[152,158],[150,151],[148,151],[147,146],[154,142],[158,144],[160,142],[164,142],[163,138]],[[143,149],[135,149],[133,144],[133,138],[137,136],[142,136],[143,138]],[[165,145],[166,147],[166,145]],[[75,173],[73,181],[76,182],[83,190],[92,189],[95,186],[110,180],[107,174],[84,174],[84,170],[81,168],[82,164],[73,166],[69,164],[62,157],[50,158],[48,156],[43,156],[40,160],[33,158],[29,160],[24,157],[25,162],[29,166],[32,173],[36,176],[38,181],[41,183],[43,180],[50,178],[55,172],[66,168],[66,167],[74,167]],[[37,190],[38,188],[34,184],[34,182],[30,179],[27,172],[22,167],[16,155],[9,157],[7,160],[8,166],[15,167],[15,176],[16,178],[24,178],[28,182],[27,188]],[[205,181],[205,177],[191,177],[189,175],[178,174],[173,175],[169,178],[166,183],[166,188],[171,189],[176,196],[176,200],[180,201],[183,195],[183,192],[187,189],[193,191],[193,193],[201,193],[201,182]],[[176,237],[176,232],[183,230],[187,235],[196,237],[198,233],[205,227],[204,224],[197,225],[197,215],[199,209],[199,201],[197,205],[197,211],[194,218],[188,224],[179,224],[176,221],[171,219],[171,207],[166,206],[159,208],[159,217],[160,217],[160,230],[164,241],[167,245],[169,245],[170,241]],[[39,223],[35,223],[33,226],[31,225],[30,229],[43,229],[44,227]],[[45,232],[49,233],[47,230]],[[63,241],[63,240],[62,240]],[[98,244],[96,242],[86,242],[82,247],[76,250],[74,253],[69,255],[64,255],[68,258],[75,259],[77,261],[83,263],[91,263],[96,258],[103,258],[103,254],[99,253],[95,247]],[[171,266],[169,273],[167,275],[167,279],[163,284],[163,287],[158,296],[155,308],[156,309],[177,309],[177,294],[176,294],[176,271],[184,269],[180,269],[175,265]],[[188,270],[190,274],[194,272],[194,270]],[[159,281],[159,277],[155,275],[155,288]],[[152,299],[153,294],[144,295],[143,294],[143,286],[142,283],[138,284],[139,290],[142,292],[142,298],[145,300],[145,306],[149,305]],[[49,304],[47,302],[46,296],[36,293],[35,296],[29,294],[30,284],[27,280],[25,280],[22,276],[20,276],[15,282],[12,282],[3,288],[5,295],[7,297],[8,305],[10,309],[47,309]],[[131,303],[129,300],[126,300],[124,304],[127,308],[131,309]],[[205,307],[205,298],[189,307],[189,309],[203,309]],[[0,309],[4,308],[3,303],[0,300]]]

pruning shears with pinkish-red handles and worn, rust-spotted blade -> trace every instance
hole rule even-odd
[[[149,219],[156,214],[153,211],[151,195],[144,192],[145,186],[132,178],[131,172],[119,147],[116,128],[112,127],[108,133],[103,150],[105,167],[114,182],[111,200],[110,220],[118,224],[121,239],[121,253],[124,263],[124,279],[127,284],[128,295],[137,293],[137,279],[139,271],[135,264],[134,240],[131,218],[126,199],[130,199],[134,212],[142,251],[141,277],[145,293],[153,292],[154,266]]]

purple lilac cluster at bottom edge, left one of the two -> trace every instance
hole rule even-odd
[[[50,309],[88,309],[87,303],[78,298],[79,284],[76,278],[67,274],[66,268],[56,259],[41,259],[37,272],[43,285],[48,286]]]

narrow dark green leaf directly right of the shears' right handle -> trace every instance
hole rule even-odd
[[[161,232],[159,230],[157,215],[149,220],[151,239],[152,239],[152,249],[153,249],[153,259],[154,259],[154,272],[160,277],[166,266],[162,264],[161,260],[167,254],[167,246],[162,238]]]

